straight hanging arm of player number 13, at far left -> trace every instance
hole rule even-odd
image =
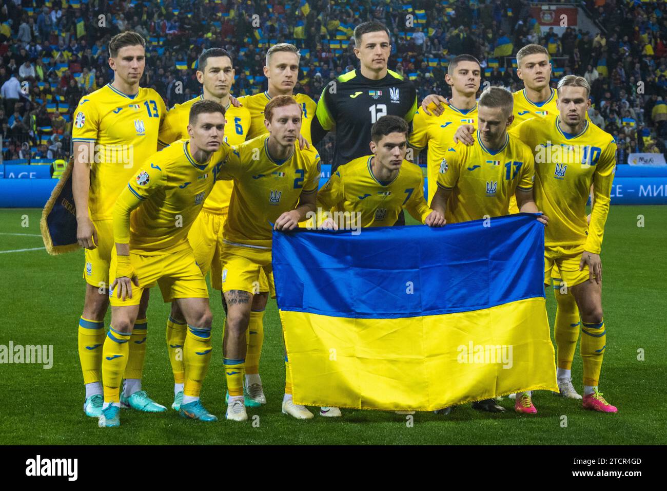
[[[90,168],[95,162],[99,113],[95,102],[83,99],[75,111],[72,129],[72,194],[77,212],[77,242],[86,249],[97,247],[97,230],[88,214]]]

